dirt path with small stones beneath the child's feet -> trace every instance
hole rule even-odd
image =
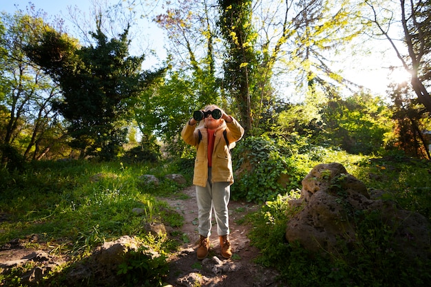
[[[275,270],[263,268],[255,264],[253,259],[259,255],[254,246],[250,246],[247,237],[252,226],[240,224],[240,220],[248,213],[256,211],[259,206],[244,202],[229,203],[229,228],[233,256],[224,259],[220,255],[220,244],[217,226],[213,218],[211,229],[211,249],[207,258],[196,258],[196,242],[198,240],[198,206],[194,186],[183,189],[180,194],[170,198],[161,198],[185,218],[184,225],[178,230],[185,243],[169,257],[169,277],[167,286],[283,286],[277,283]],[[169,285],[170,284],[170,285]]]

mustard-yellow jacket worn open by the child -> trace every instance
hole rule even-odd
[[[232,123],[226,123],[226,135],[229,145],[240,140],[244,135],[244,129],[240,123],[233,118]],[[208,134],[207,129],[200,129],[202,138],[199,140],[198,129],[196,125],[185,125],[181,131],[182,139],[189,145],[196,147],[195,169],[193,173],[193,184],[200,187],[207,186],[208,180]],[[229,147],[223,136],[224,128],[215,131],[211,181],[212,182],[230,182],[233,184],[232,158]]]

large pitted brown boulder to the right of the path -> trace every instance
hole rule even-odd
[[[370,214],[394,231],[394,246],[406,257],[430,257],[430,224],[419,213],[399,209],[391,200],[370,196],[363,182],[339,163],[318,164],[302,180],[302,206],[288,221],[286,240],[313,252],[335,253],[357,241],[358,220]],[[377,226],[377,225],[376,225]]]

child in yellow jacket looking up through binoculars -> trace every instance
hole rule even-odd
[[[233,170],[229,148],[243,135],[244,129],[240,123],[216,105],[207,105],[203,111],[195,111],[181,131],[185,142],[197,149],[193,184],[196,185],[198,202],[198,259],[204,259],[209,253],[213,210],[222,257],[229,259],[232,256],[228,204]]]

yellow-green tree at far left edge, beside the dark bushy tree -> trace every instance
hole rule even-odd
[[[31,11],[30,11],[31,12]],[[52,102],[59,98],[59,87],[25,54],[25,46],[49,26],[41,16],[17,12],[1,14],[0,39],[2,120],[1,164],[10,162],[9,151],[25,159],[47,156],[64,137]]]

